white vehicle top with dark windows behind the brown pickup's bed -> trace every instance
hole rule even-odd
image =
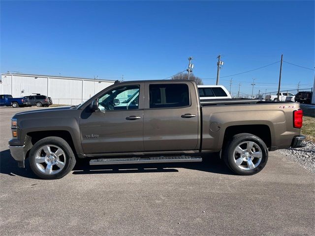
[[[200,100],[232,98],[230,93],[221,85],[198,85]]]

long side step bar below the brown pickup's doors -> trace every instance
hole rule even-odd
[[[158,156],[158,157],[127,157],[92,159],[90,165],[169,163],[169,162],[200,162],[200,156]]]

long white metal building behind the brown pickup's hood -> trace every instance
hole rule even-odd
[[[1,74],[0,94],[40,93],[51,97],[54,104],[77,105],[112,84],[111,80],[7,73]]]

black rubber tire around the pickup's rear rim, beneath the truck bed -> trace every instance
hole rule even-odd
[[[235,155],[234,150],[240,144],[242,144],[244,142],[248,142],[248,141],[253,142],[255,145],[259,146],[259,148],[261,149],[261,152],[262,152],[262,157],[261,157],[260,163],[255,168],[253,168],[252,170],[241,169],[236,164],[235,156],[234,156]],[[236,173],[238,175],[250,176],[250,175],[257,174],[258,172],[260,172],[265,167],[265,165],[268,161],[268,148],[267,148],[266,144],[259,137],[255,136],[253,134],[249,134],[249,133],[241,133],[241,134],[234,135],[232,137],[232,139],[229,142],[227,142],[227,144],[223,148],[222,157],[223,157],[222,159],[224,160],[225,164],[227,165],[227,167],[231,171],[233,171],[234,173]],[[254,159],[252,159],[252,160],[254,160]],[[243,162],[243,163],[246,163],[246,162]]]

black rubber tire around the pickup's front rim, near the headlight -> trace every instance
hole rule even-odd
[[[58,146],[60,148],[62,148],[63,152],[64,152],[64,167],[63,169],[56,173],[56,174],[46,174],[41,172],[38,167],[36,166],[35,163],[35,155],[36,152],[43,146],[45,145],[54,145],[54,146]],[[62,178],[65,175],[67,175],[75,166],[76,163],[76,159],[75,159],[75,155],[72,151],[72,149],[70,148],[69,144],[62,138],[60,137],[47,137],[47,138],[43,138],[41,140],[39,140],[37,143],[35,143],[35,145],[32,147],[31,151],[30,151],[30,167],[32,169],[32,172],[43,179],[58,179],[58,178]]]

